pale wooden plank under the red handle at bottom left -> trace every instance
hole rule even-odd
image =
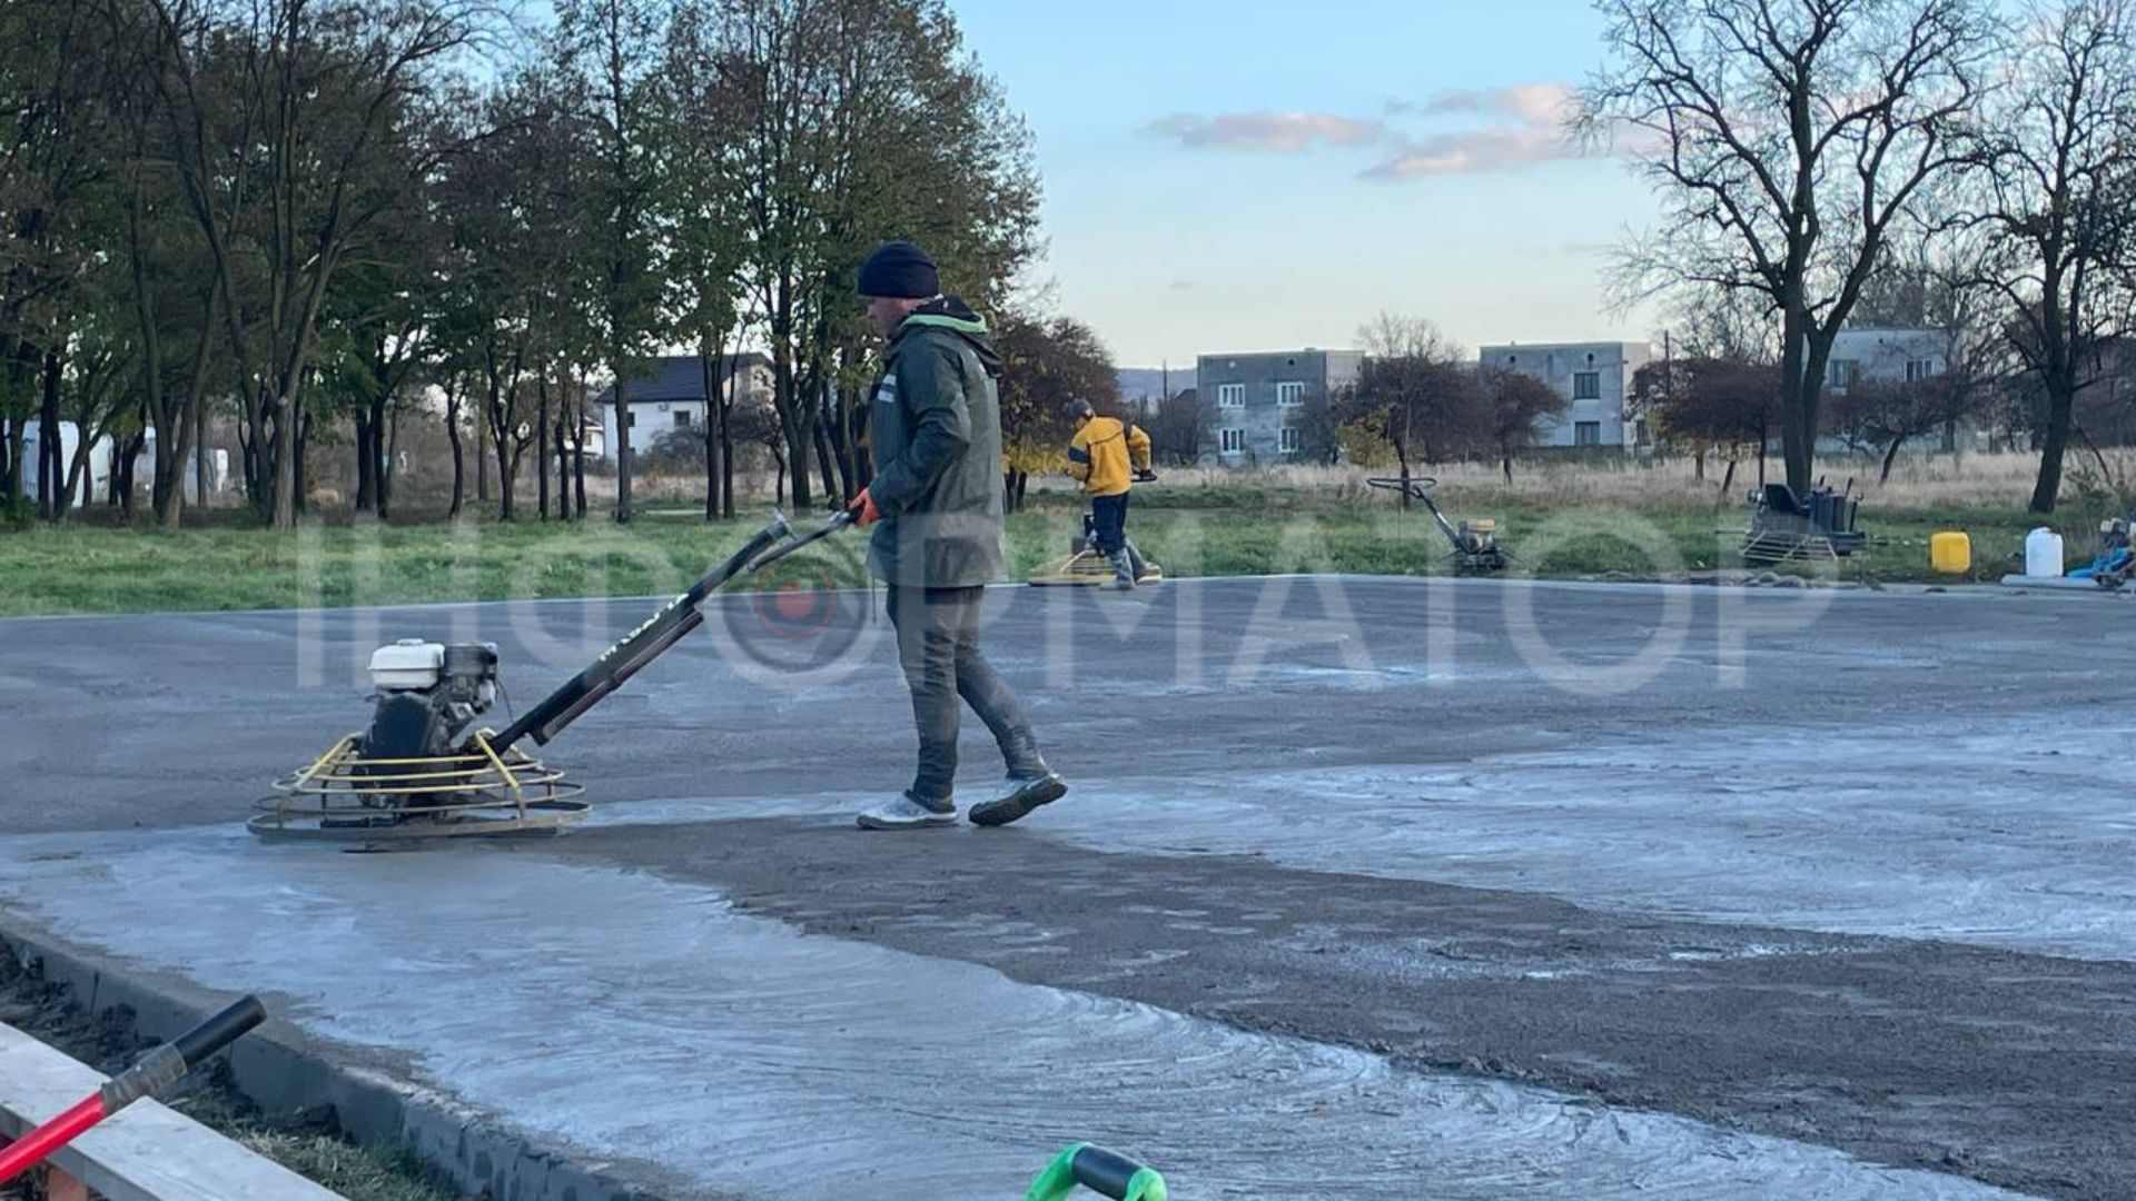
[[[0,1135],[13,1139],[81,1101],[105,1075],[0,1026]],[[49,1160],[111,1201],[346,1201],[152,1101],[137,1101]]]

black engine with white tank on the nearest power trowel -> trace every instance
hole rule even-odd
[[[451,754],[498,703],[498,643],[402,639],[372,652],[372,724],[363,759]]]

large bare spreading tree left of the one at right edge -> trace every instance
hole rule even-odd
[[[1617,291],[1749,293],[1779,316],[1781,444],[1807,489],[1833,340],[1920,190],[1978,158],[1980,0],[1598,0],[1581,128],[1628,135],[1666,220]]]

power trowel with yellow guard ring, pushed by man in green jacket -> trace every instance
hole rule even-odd
[[[630,630],[519,720],[474,727],[498,699],[496,643],[404,639],[372,654],[372,724],[276,780],[248,829],[269,840],[406,844],[427,838],[560,833],[592,812],[585,791],[519,748],[547,746],[602,697],[705,622],[705,598],[801,547],[852,526],[842,511],[795,534],[773,513],[726,562]],[[782,541],[784,539],[784,541]],[[472,729],[470,729],[472,727]]]

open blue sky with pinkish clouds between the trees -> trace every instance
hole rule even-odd
[[[1350,346],[1380,310],[1450,338],[1647,338],[1600,267],[1653,222],[1568,158],[1583,0],[951,0],[1025,115],[1062,312],[1121,365]]]

